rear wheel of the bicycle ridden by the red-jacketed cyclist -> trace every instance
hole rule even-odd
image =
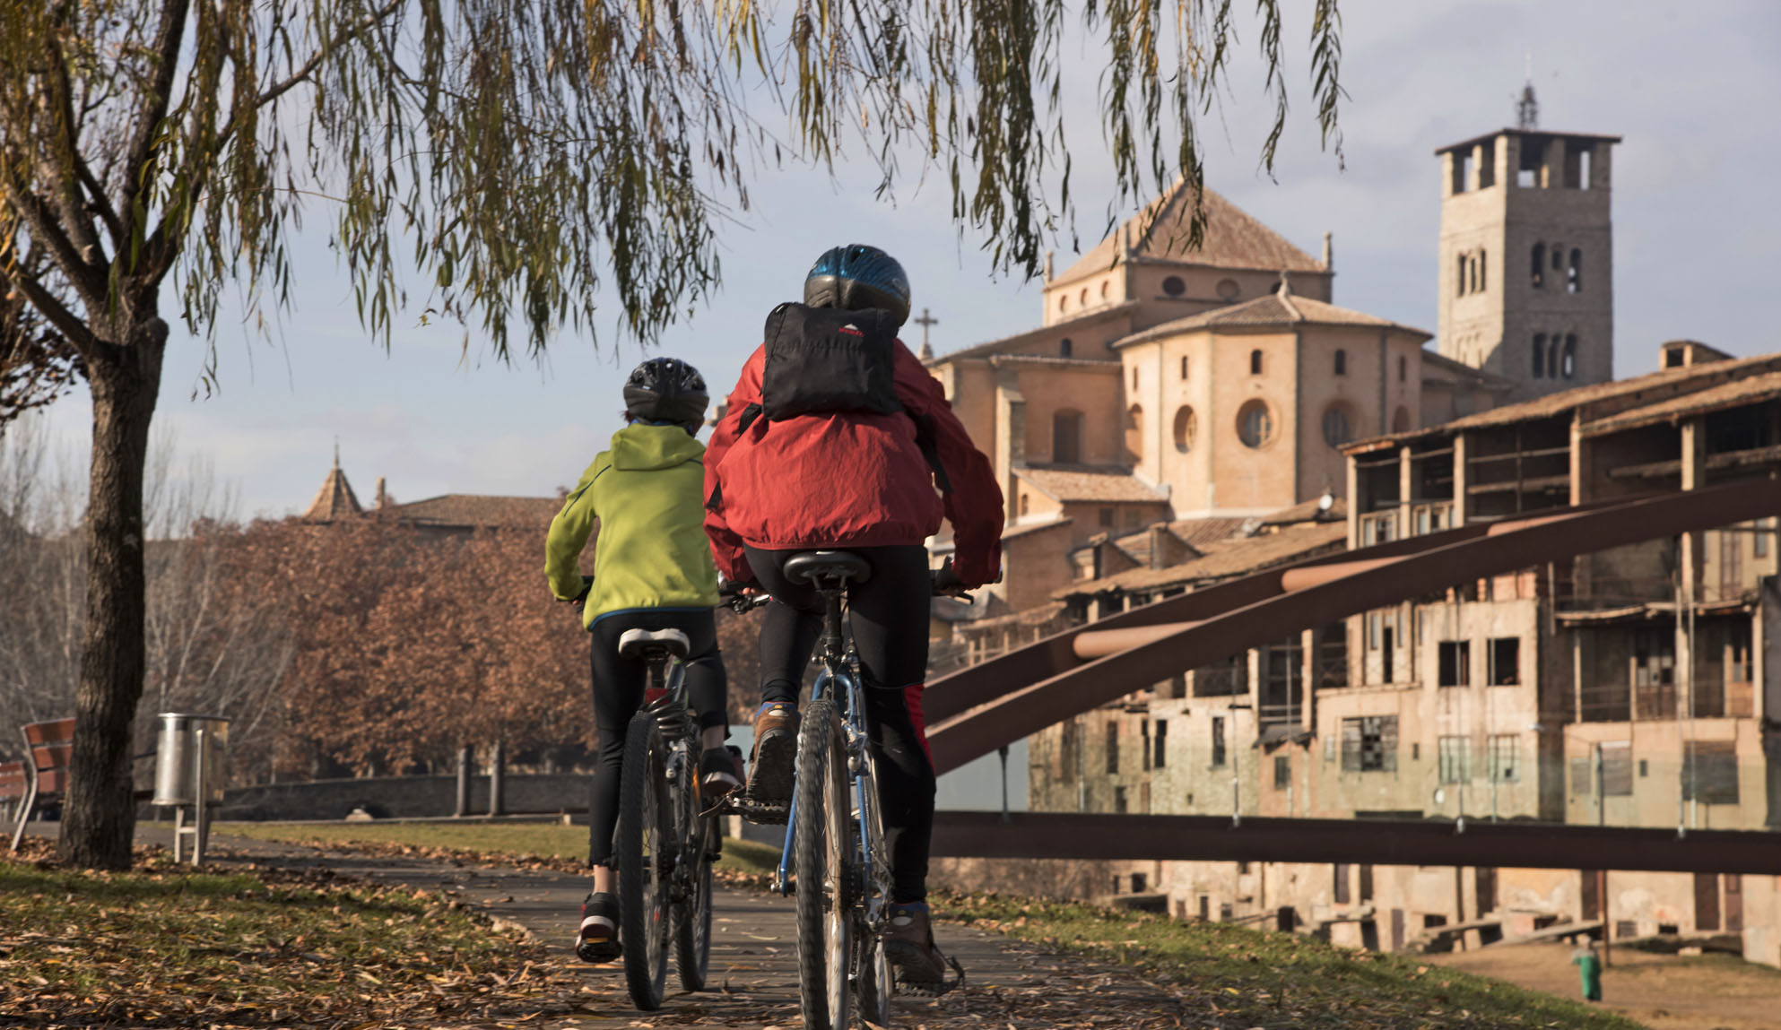
[[[851,840],[841,712],[810,704],[798,729],[798,1009],[805,1030],[846,1030],[853,918],[846,907]]]

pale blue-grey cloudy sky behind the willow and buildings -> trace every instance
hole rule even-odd
[[[1295,5],[1297,7],[1297,5]],[[1293,112],[1273,169],[1257,165],[1270,109],[1259,64],[1245,57],[1200,125],[1206,180],[1316,254],[1334,233],[1336,302],[1409,326],[1435,326],[1439,160],[1434,149],[1514,123],[1528,68],[1541,128],[1619,133],[1614,160],[1615,375],[1656,366],[1671,338],[1731,354],[1781,350],[1765,299],[1781,242],[1781,5],[1765,0],[1671,4],[1345,0],[1341,110],[1345,167],[1318,146],[1307,25],[1289,20]],[[1245,53],[1254,23],[1241,25]],[[1081,30],[1067,37],[1065,116],[1076,141],[1072,192],[1081,249],[1099,240],[1113,173],[1097,135],[1097,66]],[[910,272],[930,310],[937,352],[1040,324],[1040,286],[996,276],[981,238],[960,235],[944,180],[907,181],[874,199],[867,162],[834,176],[766,171],[753,210],[720,229],[723,285],[652,350],[696,365],[728,393],[760,340],[766,313],[798,299],[825,249],[867,242]],[[1131,212],[1120,212],[1127,215]],[[310,208],[308,226],[331,212]],[[157,427],[183,468],[198,461],[235,496],[237,518],[301,512],[333,463],[362,502],[385,477],[397,502],[443,493],[549,496],[570,486],[620,425],[620,386],[645,354],[559,334],[543,365],[463,352],[458,326],[397,317],[388,352],[358,322],[346,272],[308,231],[296,290],[276,333],[224,315],[217,384],[199,390],[205,343],[175,326]],[[1058,267],[1070,263],[1070,238]],[[419,308],[419,306],[417,306]],[[171,310],[171,304],[169,304]],[[919,345],[919,329],[905,331]],[[61,450],[89,447],[84,391],[46,427]]]

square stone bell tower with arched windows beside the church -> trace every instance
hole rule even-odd
[[[1444,146],[1437,345],[1526,400],[1614,379],[1617,135],[1542,132],[1530,84],[1516,128]]]

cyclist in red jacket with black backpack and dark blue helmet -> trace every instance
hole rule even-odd
[[[924,541],[953,523],[964,587],[1001,569],[1003,495],[988,459],[940,382],[896,331],[908,278],[878,247],[834,247],[803,285],[803,304],[768,317],[705,450],[705,532],[718,571],[771,596],[760,626],[760,710],[750,793],[787,799],[798,688],[823,626],[814,587],[782,564],[844,548],[873,575],[848,591],[878,758],[892,909],[885,954],[907,984],[937,986],[944,959],[928,920],[933,761],[921,715],[933,596]]]

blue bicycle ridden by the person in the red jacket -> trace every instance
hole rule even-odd
[[[949,575],[949,566],[935,573],[935,592],[960,596],[956,576],[947,583]],[[860,660],[842,605],[848,582],[867,576],[871,564],[850,551],[801,551],[785,560],[785,578],[812,583],[823,598],[817,656],[823,669],[798,731],[787,847],[775,881],[780,895],[796,893],[798,1007],[805,1030],[844,1030],[855,996],[858,1016],[883,1026],[896,989],[883,948],[890,861]],[[796,866],[796,891],[791,866]],[[956,962],[953,968],[964,980],[964,970]]]

